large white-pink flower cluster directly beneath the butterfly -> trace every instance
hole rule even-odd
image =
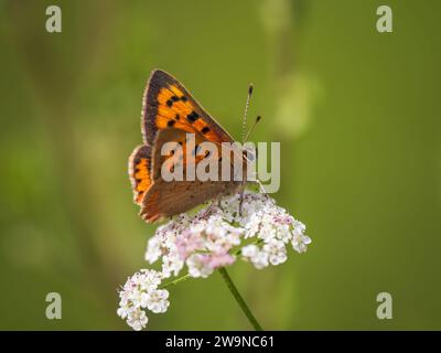
[[[288,258],[287,245],[304,253],[311,239],[305,226],[276,205],[267,194],[223,199],[218,205],[194,216],[182,214],[158,228],[148,242],[146,259],[162,259],[164,277],[178,276],[186,265],[191,277],[207,277],[237,258],[256,268],[280,265]]]

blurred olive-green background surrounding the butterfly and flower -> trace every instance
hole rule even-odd
[[[394,33],[376,31],[389,4]],[[58,4],[63,32],[45,31]],[[275,195],[306,254],[229,271],[266,329],[441,329],[437,0],[0,1],[0,329],[129,329],[117,291],[154,226],[132,203],[152,68],[236,138],[281,141]],[[45,296],[63,319],[45,318]],[[376,296],[394,319],[376,318]],[[219,275],[171,289],[150,330],[250,329]]]

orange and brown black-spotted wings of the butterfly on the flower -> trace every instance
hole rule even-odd
[[[129,158],[129,176],[133,201],[141,207],[140,216],[148,223],[187,212],[195,206],[220,195],[237,192],[243,180],[228,181],[165,181],[161,168],[170,156],[162,156],[164,143],[174,142],[181,147],[184,165],[186,149],[190,148],[187,133],[194,133],[195,146],[208,141],[219,147],[233,143],[230,135],[193,98],[187,89],[172,75],[161,69],[150,74],[142,98],[141,130],[143,143],[135,148]],[[207,156],[197,156],[190,163],[198,164]],[[227,158],[230,157],[227,156]],[[176,156],[173,156],[176,160]],[[223,163],[225,153],[217,154]],[[244,158],[244,168],[247,159]],[[227,160],[233,170],[233,159]],[[229,163],[229,164],[228,164]],[[186,172],[186,167],[184,172]]]

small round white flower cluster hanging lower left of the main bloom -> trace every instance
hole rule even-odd
[[[117,313],[136,331],[146,328],[149,318],[146,310],[154,313],[165,312],[169,308],[169,291],[159,289],[162,274],[155,270],[141,269],[127,279],[119,292]]]

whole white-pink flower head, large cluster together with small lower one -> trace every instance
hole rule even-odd
[[[240,210],[240,212],[239,212]],[[148,242],[146,260],[162,263],[161,271],[143,269],[119,292],[118,315],[135,330],[147,325],[146,310],[165,312],[169,292],[161,280],[178,276],[186,266],[190,277],[208,277],[237,258],[256,268],[287,260],[287,245],[304,253],[311,239],[305,226],[276,205],[267,194],[224,197],[195,215],[181,214],[160,226]]]

